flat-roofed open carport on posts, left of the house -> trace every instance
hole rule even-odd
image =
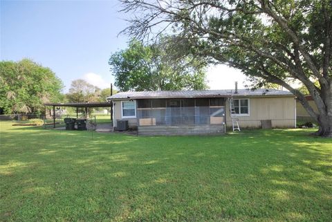
[[[113,103],[112,102],[68,102],[68,103],[45,103],[46,107],[53,107],[53,128],[55,128],[55,107],[75,107],[76,108],[76,118],[78,118],[78,109],[84,108],[86,113],[86,118],[88,118],[89,108],[102,108],[111,107],[110,120],[113,120]]]

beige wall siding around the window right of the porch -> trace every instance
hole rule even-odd
[[[235,98],[234,98],[235,99]],[[238,99],[238,98],[236,98]],[[295,127],[295,98],[243,98],[249,99],[250,115],[239,116],[240,128],[261,128],[261,120],[271,120],[273,128],[294,128]],[[226,124],[232,126],[230,118],[230,104],[227,101],[225,106]]]

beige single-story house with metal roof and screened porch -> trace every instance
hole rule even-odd
[[[224,133],[232,118],[241,128],[260,128],[262,120],[273,128],[296,127],[295,95],[275,89],[129,91],[107,100],[113,102],[113,127],[128,120],[139,135]]]

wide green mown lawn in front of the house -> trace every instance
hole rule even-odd
[[[310,129],[91,140],[0,124],[0,221],[332,221],[332,140]]]

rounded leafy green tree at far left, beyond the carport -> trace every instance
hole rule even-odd
[[[4,113],[42,113],[45,102],[62,100],[62,81],[30,59],[0,62],[0,108]]]

